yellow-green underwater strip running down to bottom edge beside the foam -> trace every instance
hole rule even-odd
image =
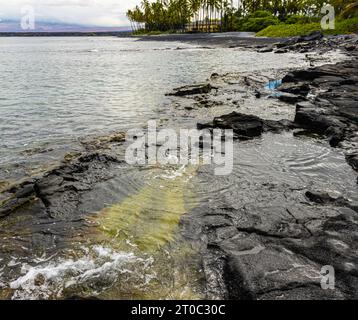
[[[203,299],[204,278],[198,252],[180,237],[183,214],[196,205],[192,179],[196,168],[172,176],[151,171],[138,193],[102,210],[96,222],[102,242],[152,259],[142,278],[113,284],[100,294],[106,299]]]

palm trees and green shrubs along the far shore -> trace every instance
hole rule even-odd
[[[259,35],[286,36],[320,29],[327,3],[339,17],[336,33],[357,31],[356,0],[142,0],[127,16],[135,32],[265,29]]]

